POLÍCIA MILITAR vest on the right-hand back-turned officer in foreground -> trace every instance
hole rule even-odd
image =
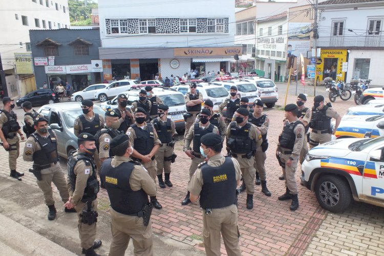
[[[225,157],[221,166],[213,167],[200,164],[203,175],[203,187],[200,192],[200,206],[223,208],[236,204],[236,169],[230,157]]]

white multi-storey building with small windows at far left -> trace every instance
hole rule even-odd
[[[4,73],[1,73],[2,79],[0,81],[3,87],[3,83],[7,84],[10,97],[24,95],[36,88],[35,79],[31,71],[19,70],[16,73],[14,54],[31,52],[30,44],[34,42],[30,42],[29,39],[30,29],[69,28],[68,1],[0,1],[0,10],[2,10],[0,15],[0,31],[2,32],[0,54],[4,70]],[[32,59],[28,56],[24,60],[32,63]]]

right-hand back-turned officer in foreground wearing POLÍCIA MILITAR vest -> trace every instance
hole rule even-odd
[[[227,254],[240,256],[236,187],[241,170],[236,159],[220,154],[222,148],[220,135],[208,133],[201,137],[200,152],[208,161],[199,164],[188,190],[192,202],[200,195],[205,253],[220,255],[222,233]]]

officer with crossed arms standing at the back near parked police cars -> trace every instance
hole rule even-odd
[[[191,83],[189,86],[190,92],[187,92],[184,96],[185,104],[187,106],[187,112],[189,117],[184,117],[185,119],[185,134],[184,138],[187,136],[187,133],[196,120],[196,115],[201,111],[201,103],[203,103],[203,94],[197,91],[196,83]],[[187,114],[188,115],[188,114]]]

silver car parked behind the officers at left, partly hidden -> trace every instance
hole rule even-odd
[[[105,115],[99,106],[94,105],[93,111],[102,116]],[[60,157],[68,159],[69,154],[76,150],[77,137],[73,133],[73,124],[76,117],[82,115],[78,102],[61,102],[54,105],[44,105],[37,111],[45,116],[48,125],[57,135],[57,153]]]

